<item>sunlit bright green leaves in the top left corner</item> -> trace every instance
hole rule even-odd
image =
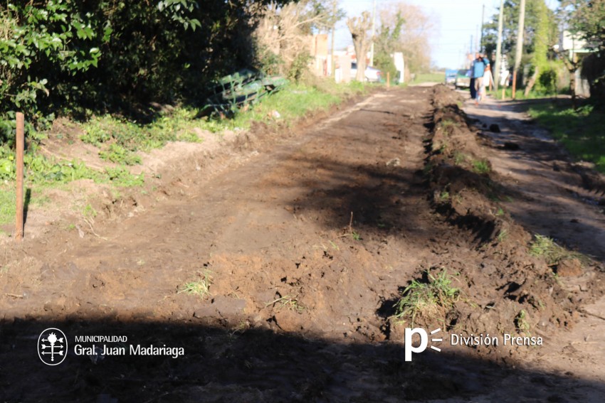
[[[31,108],[38,93],[48,96],[48,78],[43,77],[41,65],[54,65],[57,73],[65,75],[98,66],[100,49],[93,45],[97,34],[90,17],[77,12],[70,1],[7,4],[0,14],[4,26],[4,36],[0,37],[0,72],[4,77],[0,105]]]

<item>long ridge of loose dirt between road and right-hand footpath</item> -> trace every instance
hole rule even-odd
[[[573,325],[580,301],[595,301],[604,294],[601,281],[589,289],[569,289],[558,276],[602,279],[601,264],[587,257],[580,262],[563,249],[557,262],[529,253],[534,237],[502,203],[517,193],[491,170],[488,149],[481,146],[485,138],[452,101],[451,90],[436,87],[434,127],[427,144],[433,206],[452,225],[473,235],[480,261],[459,268],[468,303],[457,303],[448,320],[467,334],[498,329],[549,337],[554,328]],[[504,358],[509,352],[491,346],[485,353]]]

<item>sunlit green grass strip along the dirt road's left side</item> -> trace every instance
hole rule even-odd
[[[201,109],[189,107],[172,109],[150,124],[127,122],[110,115],[93,117],[78,125],[83,131],[80,140],[97,146],[100,158],[119,166],[95,171],[77,160],[46,158],[36,153],[36,141],[30,136],[28,139],[33,140],[33,144],[24,158],[26,186],[38,191],[43,187],[57,187],[78,179],[111,183],[117,187],[142,186],[144,175],[132,175],[127,168],[142,162],[138,151],[157,149],[169,141],[202,141],[196,134],[198,129],[220,133],[248,129],[252,122],[291,124],[309,112],[326,110],[367,91],[369,86],[360,82],[336,84],[332,80],[317,80],[306,85],[288,85],[265,97],[255,107],[238,112],[233,119],[200,118]],[[279,117],[274,111],[278,112]],[[15,169],[14,151],[8,144],[0,144],[0,183],[4,182],[0,194],[0,224],[14,220],[15,196],[11,189],[14,189]]]

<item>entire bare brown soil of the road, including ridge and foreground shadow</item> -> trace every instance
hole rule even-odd
[[[100,194],[89,228],[51,225],[5,244],[2,400],[604,401],[605,244],[591,241],[605,222],[598,203],[554,200],[528,167],[567,161],[548,178],[574,189],[587,174],[518,127],[482,130],[507,122],[460,102],[443,86],[409,87],[295,129],[258,126],[222,154],[156,163],[149,194]],[[505,133],[517,151],[500,146]],[[590,225],[582,236],[562,230],[566,209]],[[587,257],[549,266],[528,253],[535,233]],[[411,323],[394,321],[394,304],[411,280],[443,270],[456,303],[414,323],[443,330],[441,352],[406,362]],[[200,279],[209,296],[179,292]],[[70,343],[126,335],[184,356],[70,350],[46,367],[36,341],[50,327]],[[448,343],[480,333],[544,345]]]

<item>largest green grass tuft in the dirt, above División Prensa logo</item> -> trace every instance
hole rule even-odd
[[[446,269],[441,270],[436,276],[425,272],[422,281],[412,280],[409,286],[401,293],[401,298],[395,303],[395,314],[392,318],[405,321],[409,318],[411,326],[417,316],[431,318],[438,314],[440,308],[449,310],[460,295],[460,290],[451,286],[453,276]]]

